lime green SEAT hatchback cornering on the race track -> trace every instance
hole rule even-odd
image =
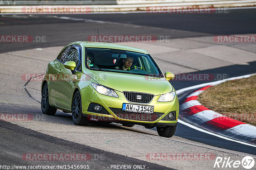
[[[42,112],[72,113],[76,125],[90,121],[156,127],[174,135],[179,101],[156,61],[143,49],[101,42],[74,42],[49,62],[42,81]]]

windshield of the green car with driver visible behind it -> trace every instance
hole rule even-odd
[[[86,48],[86,68],[91,70],[163,77],[149,54],[133,51]]]

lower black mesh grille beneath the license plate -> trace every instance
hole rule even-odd
[[[134,113],[130,111],[123,111],[119,108],[109,108],[115,115],[122,119],[128,119],[128,120],[137,120],[137,121],[148,121],[148,122],[154,122],[159,117],[161,117],[164,113],[161,112],[153,112],[153,113]]]

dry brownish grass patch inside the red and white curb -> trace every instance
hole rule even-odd
[[[197,100],[217,113],[256,126],[256,75],[212,86]]]

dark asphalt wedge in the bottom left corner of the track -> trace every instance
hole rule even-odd
[[[86,145],[77,144],[60,138],[55,138],[49,135],[45,135],[40,132],[32,131],[30,129],[20,127],[9,122],[1,122],[0,124],[1,138],[5,141],[1,142],[2,151],[1,164],[12,162],[14,165],[19,165],[20,155],[29,152],[36,153],[52,153],[58,151],[60,153],[81,153],[81,151],[89,153],[91,157],[88,157],[86,165],[89,165],[90,169],[107,169],[114,162],[123,165],[145,165],[147,169],[171,169],[164,166],[159,166],[146,161],[129,158],[126,156],[113,154],[111,152],[105,152],[100,149],[92,148]],[[19,145],[10,145],[10,143],[18,143]],[[15,153],[12,155],[10,153]],[[18,161],[17,161],[18,160]],[[58,161],[56,164],[52,161],[45,162],[52,166],[65,165],[66,161]],[[74,161],[72,164],[80,165],[80,161]],[[24,166],[38,165],[37,163],[22,161]]]

